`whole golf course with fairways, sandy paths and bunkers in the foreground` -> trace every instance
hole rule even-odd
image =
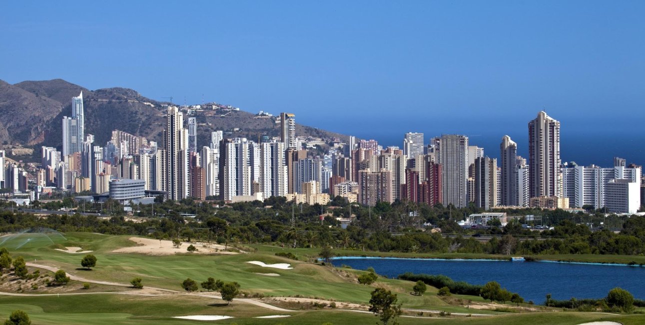
[[[190,245],[197,251],[190,253]],[[0,237],[0,248],[14,259],[23,257],[28,271],[40,274],[23,280],[5,271],[0,317],[6,319],[19,309],[33,324],[373,324],[378,318],[368,307],[375,288],[397,294],[401,324],[645,322],[639,313],[563,311],[491,303],[477,296],[440,297],[432,286],[415,295],[415,282],[405,280],[379,277],[372,284],[359,284],[357,277],[365,271],[323,265],[317,261],[320,249],[175,245],[132,235],[57,231],[8,234]],[[275,253],[292,253],[297,260]],[[94,267],[81,266],[87,254],[96,257]],[[61,269],[70,282],[45,285],[46,277]],[[143,288],[134,288],[133,278],[141,278]],[[197,284],[208,278],[237,282],[239,294],[229,304],[215,291],[189,292],[182,286],[186,278]]]

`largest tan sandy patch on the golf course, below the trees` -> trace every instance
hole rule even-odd
[[[172,244],[172,240],[157,240],[153,238],[132,237],[133,242],[139,244],[134,247],[123,247],[115,249],[112,253],[142,253],[149,255],[174,255],[175,253],[188,253],[186,248],[189,245],[195,246],[197,251],[191,254],[238,254],[232,251],[224,251],[223,245],[208,244],[203,242],[182,242],[179,248]]]

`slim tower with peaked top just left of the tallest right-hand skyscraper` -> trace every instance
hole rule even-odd
[[[499,145],[500,158],[502,160],[502,205],[519,205],[517,186],[517,143],[511,140],[510,136],[503,136]]]

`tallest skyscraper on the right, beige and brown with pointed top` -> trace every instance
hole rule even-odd
[[[560,122],[543,110],[528,122],[529,194],[561,197]]]

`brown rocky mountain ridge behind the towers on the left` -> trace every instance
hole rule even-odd
[[[148,140],[161,142],[166,124],[165,108],[136,90],[114,87],[88,90],[63,79],[22,81],[10,85],[0,80],[0,143],[4,149],[37,148],[41,145],[61,147],[63,116],[72,114],[72,97],[83,92],[85,133],[94,134],[96,143],[104,145],[119,129]],[[222,107],[222,105],[219,105]],[[256,116],[234,109],[198,110],[197,141],[201,147],[210,142],[210,132],[223,130],[224,136],[244,136],[253,140],[261,135],[279,136],[280,125],[274,118]],[[187,118],[186,118],[187,120]],[[296,125],[299,136],[341,138],[347,136]],[[34,156],[38,155],[36,150]]]

